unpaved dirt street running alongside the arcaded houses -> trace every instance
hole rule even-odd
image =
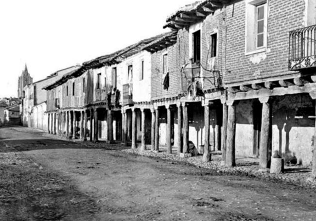
[[[123,153],[120,145],[93,148],[22,127],[0,128],[0,142],[3,221],[316,220],[316,193],[308,189],[212,175]],[[54,185],[61,190],[51,191]],[[16,200],[3,200],[10,194]]]

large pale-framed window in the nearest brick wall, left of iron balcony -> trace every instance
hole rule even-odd
[[[246,53],[265,51],[267,0],[246,0]]]

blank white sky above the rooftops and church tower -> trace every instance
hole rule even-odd
[[[0,97],[17,97],[25,63],[34,81],[169,31],[194,0],[1,0]]]

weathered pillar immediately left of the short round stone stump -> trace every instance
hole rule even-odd
[[[270,103],[269,97],[259,98],[262,103],[259,170],[267,171],[269,159]]]

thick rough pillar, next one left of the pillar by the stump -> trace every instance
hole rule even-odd
[[[235,136],[236,136],[236,104],[234,101],[227,101],[228,122],[226,140],[226,166],[236,166],[235,159]]]

